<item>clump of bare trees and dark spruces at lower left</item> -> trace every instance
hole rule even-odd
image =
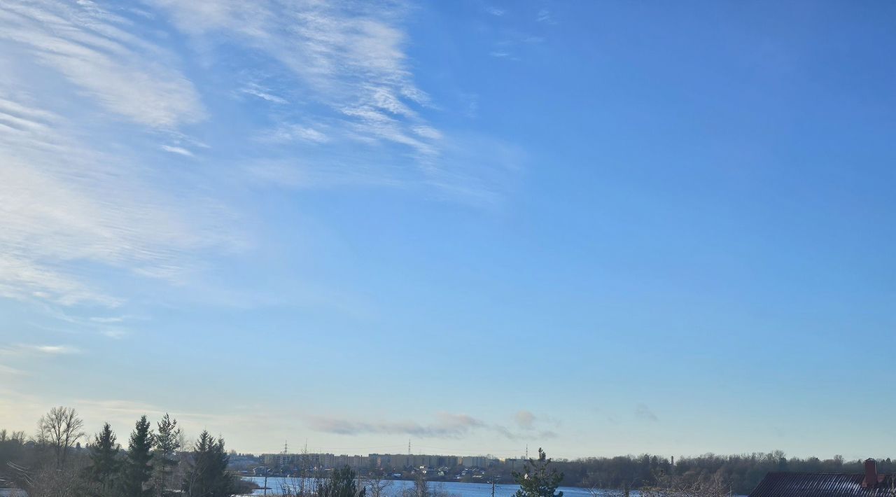
[[[0,430],[0,488],[30,497],[229,497],[246,484],[228,472],[224,441],[202,432],[185,447],[177,420],[146,416],[122,448],[107,423],[88,436],[70,407],[54,407],[37,433]],[[82,442],[84,445],[82,446]]]

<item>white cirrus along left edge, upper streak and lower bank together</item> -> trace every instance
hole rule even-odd
[[[177,279],[193,264],[185,254],[210,245],[201,233],[221,240],[200,225],[223,211],[177,200],[181,186],[105,138],[111,127],[177,138],[178,126],[202,120],[176,57],[92,2],[11,0],[0,27],[0,296],[121,304],[88,276],[94,265]],[[193,208],[198,216],[186,214]]]

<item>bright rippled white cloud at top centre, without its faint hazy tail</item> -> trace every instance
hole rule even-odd
[[[420,116],[429,106],[413,81],[397,27],[400,4],[178,2],[151,0],[166,10],[180,30],[205,43],[234,40],[271,56],[323,104],[320,121],[343,139],[404,147],[419,160],[438,155],[438,136]],[[277,103],[286,99],[257,83],[241,91]],[[284,138],[323,141],[319,130],[282,123]],[[420,134],[429,128],[432,133]],[[296,133],[299,132],[299,133]],[[327,138],[332,138],[327,135]]]

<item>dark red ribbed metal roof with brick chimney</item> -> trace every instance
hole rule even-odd
[[[749,497],[892,497],[896,478],[877,473],[877,462],[866,459],[861,473],[769,473]]]

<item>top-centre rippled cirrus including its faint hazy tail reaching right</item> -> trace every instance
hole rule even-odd
[[[492,150],[476,149],[481,157],[462,162],[451,149],[464,138],[426,118],[438,109],[412,72],[404,2],[149,4],[202,47],[236,44],[273,63],[250,71],[238,90],[271,104],[273,125],[260,139],[273,147],[248,161],[250,171],[276,162],[283,186],[306,187],[296,177],[331,178],[322,184],[351,178],[353,184],[436,189],[470,203],[494,201],[506,187],[486,180],[494,174]],[[225,53],[222,48],[220,56]],[[302,159],[291,159],[296,156]]]

